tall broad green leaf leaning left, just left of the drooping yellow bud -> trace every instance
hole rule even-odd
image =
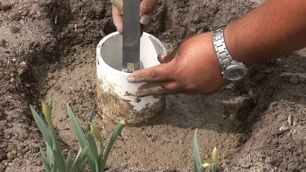
[[[67,106],[67,110],[68,110],[68,115],[73,127],[73,131],[76,134],[76,138],[81,146],[82,149],[89,147],[89,144],[87,142],[87,139],[84,135],[83,129],[80,126],[80,123],[77,121],[76,116],[74,115],[73,111],[72,111],[72,105],[70,103],[66,104]],[[82,150],[83,151],[83,150]],[[79,155],[80,156],[80,155]],[[91,150],[89,149],[89,155],[88,155],[88,164],[90,166],[91,172],[96,172],[95,171],[95,158],[92,155]],[[79,158],[79,157],[78,157]]]

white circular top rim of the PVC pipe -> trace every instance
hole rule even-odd
[[[102,39],[100,40],[100,42],[98,43],[98,45],[97,45],[97,51],[96,51],[96,53],[97,53],[98,55],[101,56],[101,47],[102,47],[103,43],[104,43],[107,39],[109,39],[110,37],[116,36],[116,35],[118,35],[118,34],[119,34],[119,32],[117,31],[117,32],[110,33],[110,34],[108,34],[107,36],[105,36],[104,38],[102,38]],[[155,36],[153,36],[153,35],[151,35],[151,34],[149,34],[149,33],[147,33],[147,32],[143,32],[143,36],[147,36],[147,37],[149,37],[149,38],[154,39],[154,40],[162,47],[162,52],[164,52],[165,54],[167,54],[166,47],[163,45],[163,43],[162,43],[159,39],[157,39]],[[101,57],[102,57],[102,56],[101,56]],[[157,57],[156,57],[156,58],[157,58]],[[102,57],[102,62],[99,62],[99,63],[103,63],[103,65],[106,66],[106,67],[107,67],[110,71],[112,71],[112,72],[120,73],[121,75],[125,75],[125,76],[129,76],[129,74],[131,74],[131,73],[122,72],[122,71],[120,71],[120,70],[117,70],[117,69],[112,68],[111,66],[109,66],[109,65],[103,60],[103,57]]]

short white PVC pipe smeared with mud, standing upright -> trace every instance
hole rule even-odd
[[[154,36],[143,33],[140,38],[140,69],[159,64],[158,54],[167,54],[165,46]],[[97,109],[102,118],[127,125],[145,125],[161,116],[165,98],[137,98],[135,91],[143,83],[129,83],[130,73],[122,72],[122,35],[118,32],[104,37],[97,46]]]

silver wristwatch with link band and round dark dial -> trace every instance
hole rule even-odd
[[[215,30],[213,34],[214,47],[221,65],[223,78],[231,81],[240,80],[248,73],[248,67],[242,62],[234,60],[227,50],[223,37],[223,30],[226,26],[227,24],[224,24]]]

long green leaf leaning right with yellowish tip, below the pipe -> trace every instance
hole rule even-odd
[[[102,166],[101,166],[101,169],[100,169],[100,172],[104,172],[104,168],[105,168],[105,165],[106,165],[106,161],[107,161],[107,158],[108,158],[108,155],[110,154],[110,150],[112,149],[118,135],[120,134],[121,130],[123,129],[125,125],[125,119],[122,119],[118,125],[115,127],[114,131],[113,131],[113,134],[112,136],[110,137],[110,141],[107,145],[107,148],[106,148],[106,151],[105,151],[105,155],[103,157],[103,162],[102,162]]]

